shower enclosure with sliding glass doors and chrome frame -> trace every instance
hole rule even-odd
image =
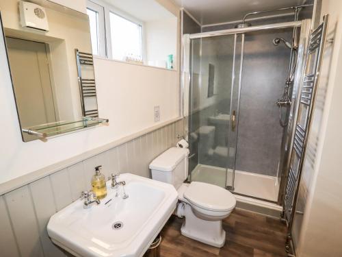
[[[184,115],[189,117],[189,180],[278,202],[291,127],[279,124],[291,50],[274,38],[297,27],[295,74],[309,21],[240,27],[183,37]],[[293,90],[298,84],[293,82]],[[291,112],[282,112],[288,119]]]

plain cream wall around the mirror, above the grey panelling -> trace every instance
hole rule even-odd
[[[177,71],[95,59],[99,115],[109,119],[109,126],[51,138],[47,143],[23,143],[2,36],[0,184],[157,124],[153,121],[155,105],[161,110],[159,123],[179,116]]]

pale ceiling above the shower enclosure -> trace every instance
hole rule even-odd
[[[239,21],[248,12],[301,5],[305,0],[173,0],[202,25]]]

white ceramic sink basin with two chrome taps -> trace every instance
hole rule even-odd
[[[178,193],[171,184],[130,173],[122,180],[127,199],[122,186],[111,189],[109,181],[101,204],[84,209],[77,200],[53,215],[47,225],[53,243],[75,256],[142,256],[176,208]]]

